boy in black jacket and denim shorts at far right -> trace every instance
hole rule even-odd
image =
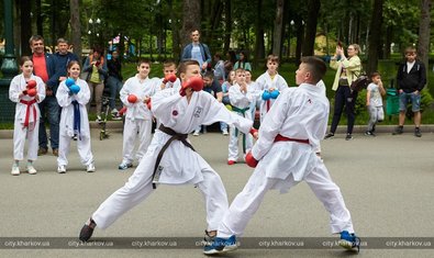
[[[426,85],[425,65],[416,59],[416,49],[412,46],[405,48],[405,63],[398,68],[397,88],[399,91],[399,125],[393,135],[402,134],[407,103],[411,101],[414,114],[414,136],[421,137],[421,91]]]

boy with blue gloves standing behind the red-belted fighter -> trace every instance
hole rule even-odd
[[[269,55],[267,57],[267,70],[256,79],[256,85],[260,90],[260,123],[265,114],[270,110],[272,103],[279,93],[288,88],[287,81],[281,77],[277,69],[279,68],[279,57]]]

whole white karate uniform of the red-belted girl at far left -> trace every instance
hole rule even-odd
[[[30,80],[36,81],[36,91],[40,98],[34,103],[32,102],[35,101],[35,97],[30,97],[26,94],[21,99],[19,98],[20,93],[25,90],[27,86],[26,80],[22,74],[13,77],[9,87],[9,99],[16,103],[15,119],[13,122],[13,158],[15,160],[23,160],[24,158],[25,138],[29,139],[27,159],[37,159],[41,116],[37,103],[41,103],[45,99],[45,83],[40,77],[34,75],[31,76]],[[22,102],[29,102],[29,104]],[[29,119],[29,126],[24,126],[26,117]]]

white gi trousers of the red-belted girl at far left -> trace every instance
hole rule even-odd
[[[34,128],[30,131],[29,128],[32,128],[33,126]],[[25,138],[27,138],[27,159],[37,159],[38,132],[38,120],[30,123],[29,127],[23,127],[23,124],[20,121],[15,120],[15,122],[13,123],[13,159],[24,159]]]

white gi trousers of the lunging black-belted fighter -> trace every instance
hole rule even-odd
[[[203,159],[202,161],[204,162]],[[155,158],[143,159],[129,181],[101,203],[92,214],[92,220],[99,228],[104,229],[109,227],[122,214],[154,192],[152,177],[155,162]],[[220,176],[210,166],[202,168],[201,173],[203,180],[197,183],[197,187],[202,192],[205,201],[207,231],[216,231],[229,206],[226,191]],[[183,184],[187,183],[189,182]]]

